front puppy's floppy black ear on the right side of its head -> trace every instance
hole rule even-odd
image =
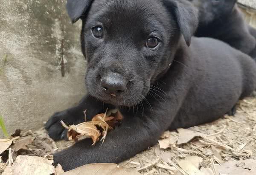
[[[181,34],[189,46],[191,37],[198,27],[198,11],[187,0],[163,0],[163,4],[174,15]]]

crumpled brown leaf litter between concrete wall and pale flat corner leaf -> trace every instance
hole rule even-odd
[[[0,174],[20,155],[47,157],[55,150],[55,142],[43,128],[35,132],[16,130],[10,138],[0,139]]]

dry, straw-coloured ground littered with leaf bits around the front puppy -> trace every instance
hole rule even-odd
[[[34,141],[25,141],[26,147],[25,144],[20,146],[18,143],[11,146],[14,160],[17,155],[45,158],[46,155],[74,143],[55,143],[45,130],[27,131],[20,137],[27,138],[29,135]],[[255,175],[256,97],[240,101],[235,116],[223,116],[210,124],[188,129],[166,131],[159,143],[120,165],[144,175]],[[3,161],[0,162],[0,174],[6,166],[4,153]]]

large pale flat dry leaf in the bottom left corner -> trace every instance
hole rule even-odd
[[[42,157],[19,155],[3,175],[50,175],[55,172],[52,162]]]

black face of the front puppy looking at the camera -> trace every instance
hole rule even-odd
[[[117,106],[140,103],[172,63],[180,39],[175,17],[156,0],[70,0],[67,8],[73,22],[83,20],[89,94]],[[183,35],[189,43],[190,34]]]

